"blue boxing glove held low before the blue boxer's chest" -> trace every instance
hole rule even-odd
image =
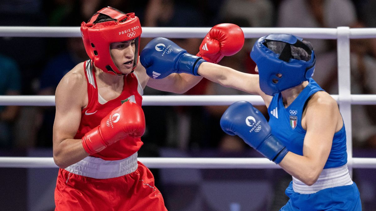
[[[221,128],[229,135],[238,135],[269,160],[278,164],[288,150],[271,134],[264,115],[246,101],[234,102],[221,117]]]

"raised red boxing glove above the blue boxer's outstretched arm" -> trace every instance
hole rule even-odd
[[[218,63],[223,56],[238,53],[244,45],[244,33],[232,23],[221,23],[210,29],[200,45],[200,56],[208,62]]]

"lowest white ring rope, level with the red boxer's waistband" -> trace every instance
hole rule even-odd
[[[280,169],[267,158],[137,158],[149,168],[163,169]],[[376,168],[376,158],[352,158],[353,168]],[[0,167],[57,168],[52,157],[0,157]]]

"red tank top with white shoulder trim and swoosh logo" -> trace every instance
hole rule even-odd
[[[74,139],[81,139],[85,133],[92,128],[97,127],[100,121],[116,107],[120,106],[122,101],[131,101],[142,105],[143,89],[138,83],[138,78],[134,73],[124,76],[123,91],[120,96],[108,102],[99,102],[98,86],[91,60],[84,62],[84,71],[88,85],[88,106],[81,111],[80,127],[77,130]],[[103,99],[103,98],[102,98]],[[91,155],[92,157],[102,158],[103,160],[121,160],[129,157],[139,150],[143,145],[141,138],[131,138],[119,140],[106,149]]]

